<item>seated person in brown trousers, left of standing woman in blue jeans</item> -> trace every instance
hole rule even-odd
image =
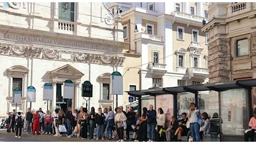
[[[186,112],[181,114],[182,120],[179,121],[179,127],[174,133],[174,136],[178,135],[178,141],[181,141],[181,136],[188,135],[189,128],[186,127],[186,122],[188,121],[188,117],[186,116]]]

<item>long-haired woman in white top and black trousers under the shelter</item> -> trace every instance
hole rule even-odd
[[[157,115],[156,115],[156,122],[157,122],[157,134],[156,134],[156,141],[162,142],[163,139],[161,138],[159,131],[161,128],[164,129],[165,127],[165,114],[162,108],[159,108],[157,110]]]

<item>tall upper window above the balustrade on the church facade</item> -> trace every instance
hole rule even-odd
[[[58,3],[58,19],[74,22],[74,3]]]

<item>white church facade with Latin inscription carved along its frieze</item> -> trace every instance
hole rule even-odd
[[[43,85],[53,85],[49,109],[86,106],[81,84],[90,81],[93,96],[88,107],[113,106],[111,73],[123,73],[129,44],[124,42],[120,19],[104,3],[8,3],[0,4],[0,116],[16,108],[13,89],[22,91],[17,111],[26,112],[27,88],[36,89],[32,109],[47,109]],[[114,25],[113,25],[114,24]],[[116,25],[116,26],[115,26]],[[73,99],[62,99],[63,82],[75,84]],[[118,99],[122,104],[122,97]]]

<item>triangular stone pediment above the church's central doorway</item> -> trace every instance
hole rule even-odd
[[[52,78],[69,78],[69,79],[81,79],[82,76],[84,75],[81,71],[77,70],[70,64],[66,64],[52,71],[48,71],[48,74],[50,74]]]

